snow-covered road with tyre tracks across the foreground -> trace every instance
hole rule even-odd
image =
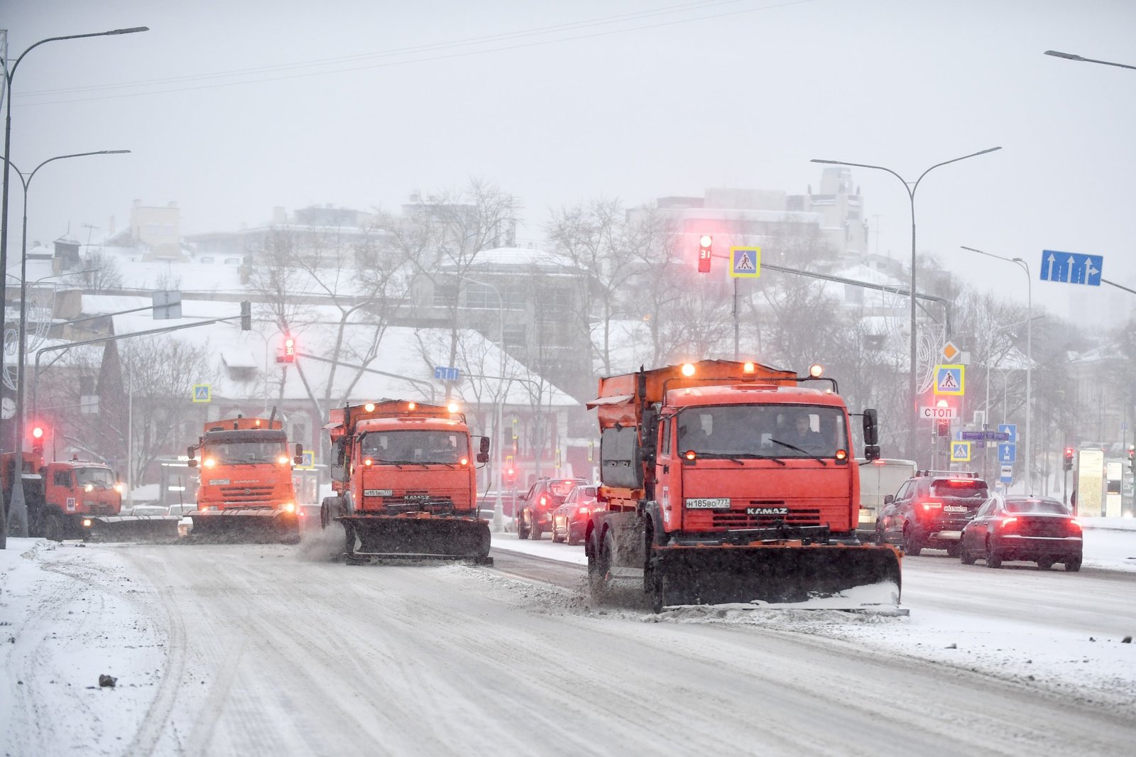
[[[1130,680],[1081,690],[1076,669],[1018,675],[1054,667],[1044,659],[997,675],[993,648],[966,656],[975,634],[1016,627],[1111,634],[1116,600],[1064,627],[1003,629],[1016,612],[988,606],[997,592],[980,597],[991,619],[942,608],[939,573],[961,566],[935,557],[909,561],[911,618],[850,619],[590,608],[576,589],[491,568],[349,567],[308,543],[27,543],[18,560],[7,550],[0,596],[10,755],[1127,755],[1136,727]],[[565,568],[570,585],[579,568]],[[967,569],[968,588],[999,573]],[[1110,580],[1042,577],[1074,580],[1063,608]],[[1133,644],[1089,643],[1136,669]]]

